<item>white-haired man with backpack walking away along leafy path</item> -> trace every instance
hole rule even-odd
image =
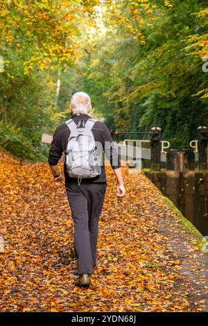
[[[97,264],[98,218],[106,189],[103,151],[116,175],[117,196],[125,195],[125,187],[110,131],[105,123],[89,116],[92,110],[89,96],[84,92],[73,94],[70,108],[71,119],[58,126],[53,134],[49,164],[55,183],[61,186],[64,178],[58,170],[58,160],[65,153],[64,183],[75,227],[78,285],[89,286],[89,276]]]

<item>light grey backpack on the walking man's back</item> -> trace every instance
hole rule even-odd
[[[67,173],[71,178],[94,178],[101,174],[101,156],[92,133],[96,120],[88,119],[87,122],[80,120],[78,125],[69,119],[65,123],[70,130],[67,150],[65,151],[65,163]]]

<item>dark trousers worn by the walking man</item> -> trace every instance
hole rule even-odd
[[[105,198],[106,183],[66,184],[74,223],[74,246],[78,274],[92,274],[96,265],[98,220]]]

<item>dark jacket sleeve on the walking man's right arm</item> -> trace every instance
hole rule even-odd
[[[103,150],[107,160],[110,162],[112,169],[119,169],[121,167],[121,162],[119,159],[119,153],[117,146],[114,144],[110,131],[108,130],[105,123],[103,123],[103,132],[105,137],[105,144]]]

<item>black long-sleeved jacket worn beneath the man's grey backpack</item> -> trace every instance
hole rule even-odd
[[[86,122],[89,118],[90,117],[87,114],[73,114],[71,116],[71,119],[73,119],[73,121],[76,124],[78,124],[78,121],[80,121],[80,119],[83,119]],[[92,133],[94,135],[95,141],[100,141],[101,144],[103,144],[103,151],[105,151],[105,155],[109,160],[112,169],[118,169],[119,167],[121,167],[121,163],[118,157],[118,153],[116,151],[116,147],[112,146],[111,151],[105,148],[105,141],[112,141],[110,131],[108,130],[107,126],[105,126],[105,123],[101,121],[96,121],[96,123],[94,123],[94,126],[92,128]],[[58,164],[58,160],[60,160],[60,157],[62,156],[62,152],[66,151],[67,149],[69,135],[70,135],[70,130],[67,127],[66,123],[62,123],[60,126],[58,126],[58,128],[56,128],[53,134],[53,141],[51,143],[51,148],[49,151],[50,165]],[[77,178],[69,177],[65,162],[64,162],[64,176],[65,176],[66,184],[74,183],[78,181]],[[98,175],[95,178],[83,179],[82,182],[87,182],[87,183],[106,182],[104,162],[103,162],[103,166],[101,166],[101,175]]]

